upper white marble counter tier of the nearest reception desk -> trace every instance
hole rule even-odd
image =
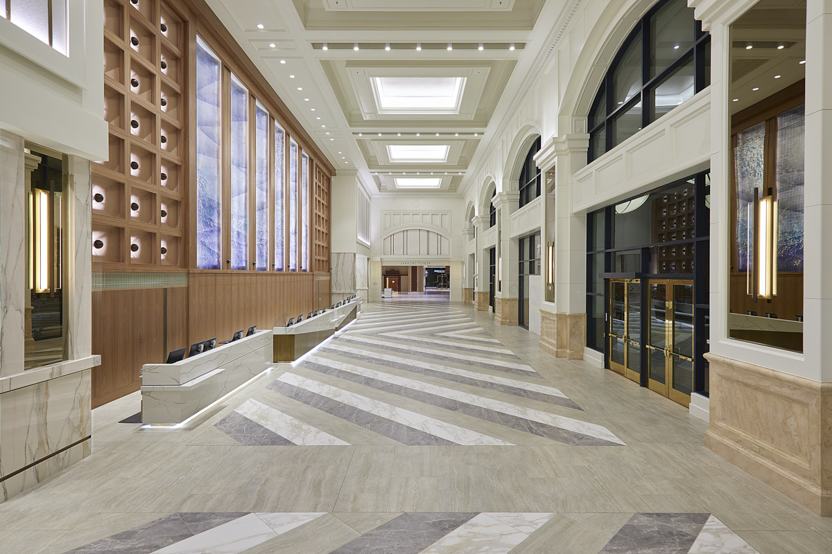
[[[246,336],[240,341],[217,346],[175,364],[145,364],[141,366],[142,385],[185,385],[201,375],[206,375],[217,368],[239,365],[238,360],[250,359],[253,352],[260,352],[272,346],[272,331],[257,331],[252,336]],[[260,368],[262,370],[263,368]],[[145,386],[141,387],[145,390]]]

